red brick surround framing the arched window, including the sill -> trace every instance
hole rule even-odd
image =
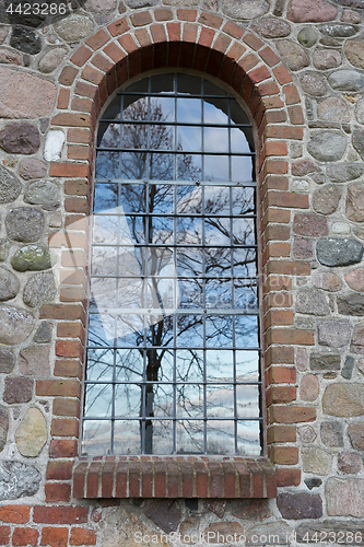
[[[54,397],[48,488],[57,481],[75,498],[272,498],[278,486],[300,484],[296,424],[316,417],[295,401],[292,346],[314,344],[312,330],[293,326],[291,293],[294,276],[310,271],[309,263],[290,258],[291,212],[308,208],[307,195],[289,190],[289,143],[304,135],[301,98],[277,55],[250,32],[209,13],[196,21],[196,10],[178,10],[178,23],[161,20],[160,11],[168,10],[136,13],[133,28],[120,19],[98,31],[59,77],[50,129],[67,133],[68,160],[52,162],[49,176],[63,181],[66,230],[50,236],[61,254],[60,300],[40,310],[40,318],[57,322],[54,374],[36,385],[38,396]],[[119,86],[155,69],[214,77],[242,97],[257,127],[265,457],[78,457],[97,118]]]

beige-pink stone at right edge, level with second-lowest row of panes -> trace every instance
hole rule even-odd
[[[324,414],[350,418],[364,415],[364,389],[361,384],[330,384],[322,397]]]

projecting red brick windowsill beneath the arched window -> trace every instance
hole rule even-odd
[[[272,464],[225,456],[106,456],[79,458],[75,498],[275,498]]]

